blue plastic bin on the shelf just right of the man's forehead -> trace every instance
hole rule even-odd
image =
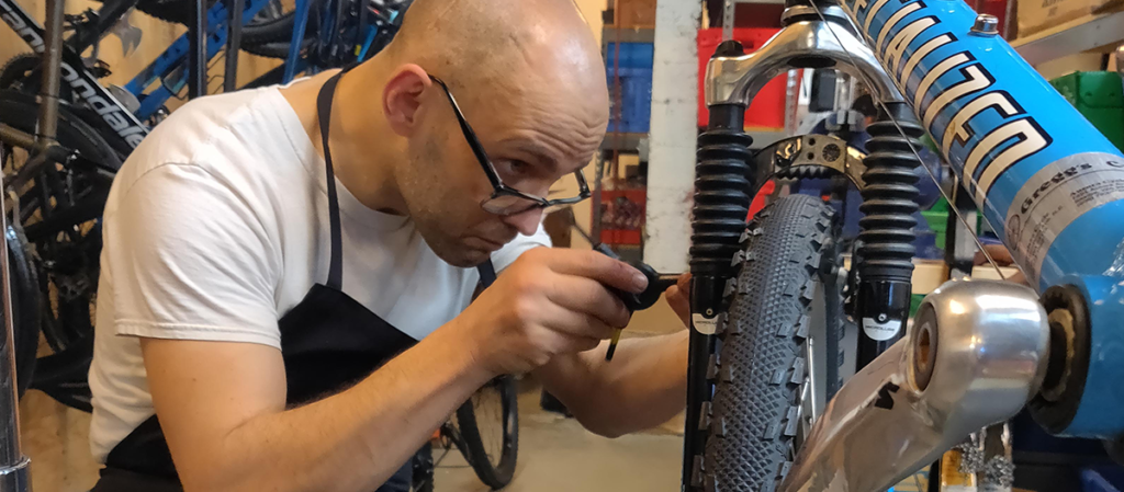
[[[620,62],[614,71],[616,44],[609,43],[606,48],[605,75],[610,95],[620,91],[619,117],[613,108],[609,119],[609,131],[646,134],[652,119],[652,56],[654,46],[651,43],[622,43]],[[616,80],[619,76],[619,82]],[[618,85],[619,84],[619,85]],[[611,101],[617,101],[613,98]]]

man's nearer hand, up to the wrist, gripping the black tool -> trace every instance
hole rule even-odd
[[[647,280],[593,250],[532,249],[453,325],[492,374],[526,373],[556,355],[592,349],[628,324],[628,310],[606,285],[641,292]]]

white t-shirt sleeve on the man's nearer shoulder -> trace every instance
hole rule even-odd
[[[281,347],[280,254],[253,200],[190,164],[117,191],[102,254],[117,335]]]

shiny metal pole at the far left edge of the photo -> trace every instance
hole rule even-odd
[[[0,190],[3,190],[2,175]],[[2,192],[0,210],[6,210]],[[0,230],[8,230],[7,213],[0,213]],[[0,240],[0,298],[3,300],[3,336],[0,337],[0,492],[27,492],[30,490],[30,461],[24,456],[19,441],[19,394],[16,389],[15,329],[11,290],[8,286],[7,240]]]

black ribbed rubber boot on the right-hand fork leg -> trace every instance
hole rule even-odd
[[[868,131],[870,154],[862,175],[867,186],[859,208],[864,217],[859,220],[856,252],[861,259],[856,265],[855,318],[863,328],[859,337],[859,367],[905,335],[915,253],[913,229],[917,225],[914,215],[918,210],[921,162],[915,151],[923,148],[924,135],[904,102],[886,103],[879,111],[879,120]]]

